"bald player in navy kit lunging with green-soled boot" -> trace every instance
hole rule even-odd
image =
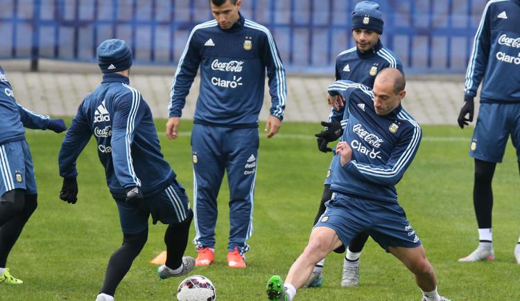
[[[422,136],[417,122],[401,107],[404,86],[403,73],[392,68],[379,71],[373,91],[347,80],[329,86],[330,95],[340,96],[334,107],[345,100],[350,113],[343,141],[336,147],[340,163],[333,173],[332,199],[285,284],[279,276],[268,281],[270,300],[293,300],[313,266],[333,250],[343,252],[359,232],[367,232],[415,274],[423,300],[445,300],[437,293],[435,272],[421,240],[397,202],[395,185],[412,163]]]

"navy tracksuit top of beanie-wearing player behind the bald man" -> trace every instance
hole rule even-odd
[[[374,80],[381,69],[396,68],[403,72],[403,64],[390,49],[383,46],[381,40],[370,51],[362,53],[357,47],[343,51],[336,57],[336,80],[352,80],[365,86],[374,86]],[[339,111],[331,109],[329,122],[341,122],[344,127],[349,116],[343,116],[345,108]]]

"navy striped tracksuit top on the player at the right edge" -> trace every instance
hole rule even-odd
[[[520,0],[485,6],[466,72],[465,94],[480,102],[520,102]]]

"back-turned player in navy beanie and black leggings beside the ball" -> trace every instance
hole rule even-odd
[[[148,217],[167,224],[166,264],[162,279],[189,273],[192,257],[182,257],[188,244],[193,212],[175,172],[164,161],[150,107],[130,86],[132,51],[119,39],[107,39],[97,48],[103,82],[80,104],[60,149],[60,199],[76,203],[76,159],[96,138],[98,156],[105,167],[108,188],[116,201],[123,244],[108,262],[105,282],[96,300],[112,301],[116,287],[148,239]]]

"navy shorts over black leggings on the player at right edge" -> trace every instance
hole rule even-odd
[[[520,162],[520,103],[481,103],[469,156],[487,162],[502,162],[509,135]]]

